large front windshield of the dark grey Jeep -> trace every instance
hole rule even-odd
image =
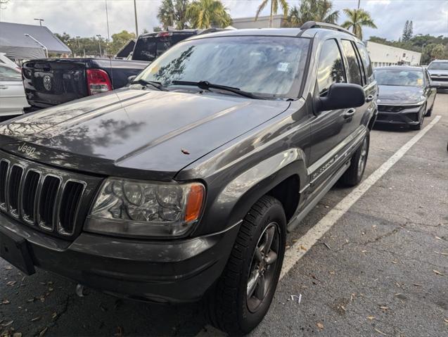
[[[212,37],[181,42],[148,66],[136,80],[208,81],[253,94],[297,97],[309,39]],[[174,85],[174,84],[172,84]]]

